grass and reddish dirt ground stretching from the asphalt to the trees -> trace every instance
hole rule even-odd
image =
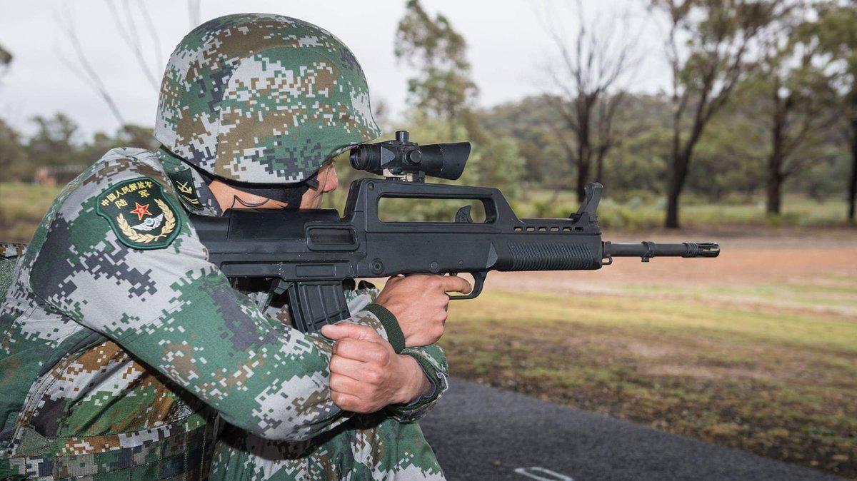
[[[0,184],[0,237],[27,241],[58,190]],[[452,303],[440,343],[453,374],[857,478],[857,231],[844,203],[785,205],[772,220],[691,203],[686,225],[709,235],[676,237],[659,206],[606,199],[605,239],[716,233],[722,256],[492,274],[479,299]],[[576,202],[515,207],[565,217]],[[659,235],[629,234],[644,229]]]

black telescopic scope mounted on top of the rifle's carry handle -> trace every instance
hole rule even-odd
[[[408,131],[399,130],[396,140],[355,146],[351,167],[411,182],[422,182],[426,175],[454,181],[464,172],[470,142],[419,145],[409,137]]]

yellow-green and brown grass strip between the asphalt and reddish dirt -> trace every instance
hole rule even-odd
[[[650,296],[453,303],[453,374],[857,476],[857,319]]]

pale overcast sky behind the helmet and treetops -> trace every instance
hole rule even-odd
[[[119,0],[112,0],[121,7]],[[136,0],[130,0],[135,6]],[[405,0],[244,1],[203,0],[201,19],[246,11],[289,15],[327,28],[351,47],[363,65],[373,99],[383,98],[394,114],[406,108],[405,80],[412,74],[393,56],[396,25],[404,14]],[[629,30],[641,32],[638,41],[642,62],[634,75],[632,90],[653,92],[668,81],[660,53],[662,34],[643,0],[582,0],[586,15],[602,21],[632,18]],[[0,79],[0,117],[25,133],[32,131],[27,119],[62,111],[81,125],[82,134],[97,130],[114,132],[117,121],[104,101],[63,65],[60,56],[72,56],[57,15],[63,4],[74,18],[81,45],[129,122],[152,125],[157,92],[142,74],[131,50],[123,44],[117,22],[107,3],[87,0],[36,0],[3,2],[0,6],[0,45],[15,60]],[[144,40],[144,55],[155,75],[163,73],[172,48],[190,29],[187,4],[182,1],[146,0],[159,39],[161,63],[146,24],[133,9]],[[572,4],[573,5],[573,4]],[[423,0],[430,13],[446,15],[468,42],[472,76],[480,89],[477,103],[500,104],[542,92],[543,66],[554,57],[554,46],[544,31],[544,13],[573,31],[577,22],[568,3],[549,0]],[[122,10],[118,10],[120,15]],[[124,27],[127,31],[127,26]]]

